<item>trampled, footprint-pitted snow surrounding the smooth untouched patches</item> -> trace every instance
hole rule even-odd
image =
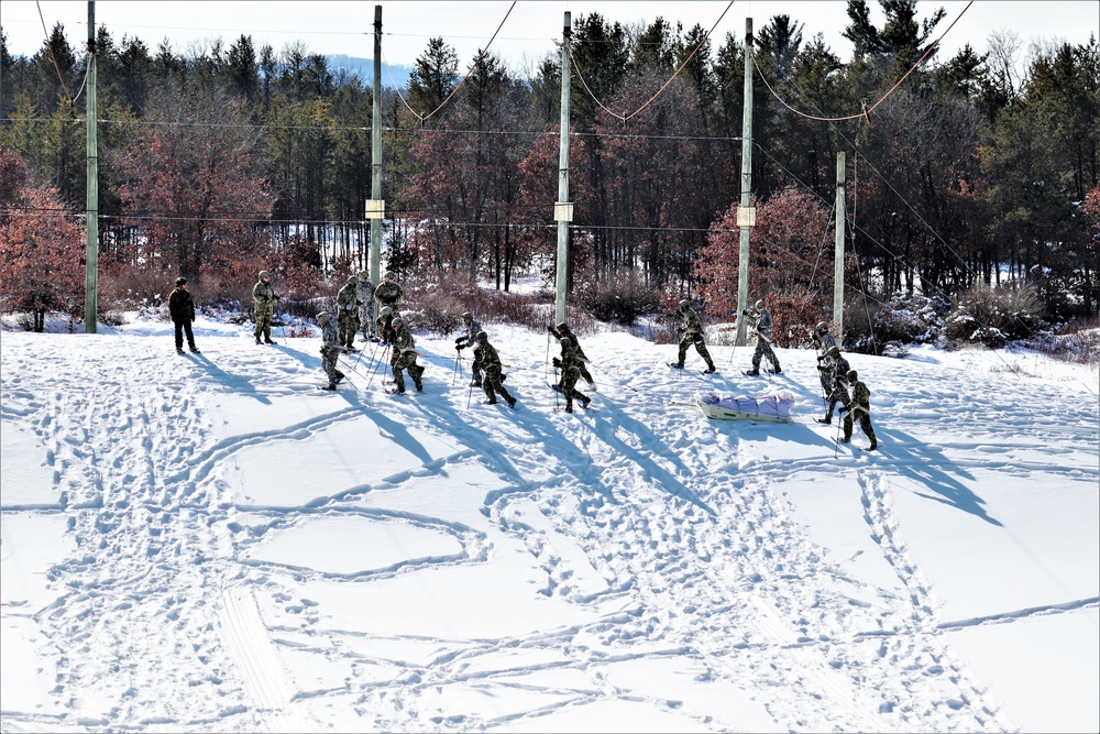
[[[208,339],[206,353],[180,358],[167,341],[151,349],[147,338],[112,339],[132,350],[124,366],[103,358],[99,347],[4,344],[2,417],[33,429],[45,447],[78,547],[51,573],[64,581],[64,594],[35,615],[50,640],[42,654],[56,662],[52,694],[68,713],[6,714],[13,725],[308,731],[321,727],[318,712],[329,697],[351,702],[364,726],[385,730],[537,726],[548,713],[618,699],[676,712],[678,702],[625,691],[607,675],[620,660],[668,657],[691,660],[701,680],[766,691],[758,701],[784,731],[1014,730],[982,682],[946,647],[945,627],[983,620],[945,625],[939,618],[935,589],[910,556],[892,494],[899,476],[915,479],[930,496],[980,515],[980,502],[950,475],[966,471],[967,462],[945,460],[944,452],[956,446],[953,439],[963,447],[980,443],[990,454],[1019,451],[1014,424],[1007,420],[1009,406],[1054,399],[1053,387],[1005,379],[1004,392],[993,399],[981,393],[988,375],[960,371],[955,386],[960,395],[971,395],[964,410],[932,388],[898,394],[869,380],[882,445],[880,454],[870,454],[834,449],[836,425],[813,424],[821,401],[812,352],[805,352],[804,362],[783,355],[798,377],[785,372],[759,382],[760,390],[795,393],[793,424],[741,425],[740,430],[715,425],[713,431],[698,431],[697,421],[705,419],[693,407],[695,391],[745,390],[745,379],[669,374],[649,364],[609,369],[613,353],[586,341],[603,380],[598,392],[590,393],[598,410],[578,408],[570,416],[556,409],[560,397],[541,384],[541,343],[532,338],[529,352],[506,359],[513,363],[506,385],[519,398],[518,408],[482,405],[480,390],[468,408],[469,373],[452,386],[453,359],[446,352],[435,355],[432,342],[425,340],[431,346],[422,360],[429,365],[422,395],[381,394],[382,375],[372,374],[371,355],[359,355],[345,359],[345,371],[355,386],[365,388],[372,381],[371,386],[317,392],[317,399],[331,399],[328,413],[218,439],[211,426],[221,416],[209,407],[211,395],[228,392],[270,402],[315,392],[320,371],[312,341],[297,351]],[[446,347],[444,341],[439,348]],[[509,346],[513,352],[521,349]],[[728,352],[715,352],[719,370],[735,374],[722,360]],[[741,361],[748,354],[737,353]],[[29,368],[40,360],[50,361],[51,369]],[[901,365],[914,375],[931,369]],[[1088,423],[1094,418],[1090,409],[1070,406],[1067,420]],[[388,476],[381,485],[399,489],[448,467],[481,463],[506,485],[488,493],[484,513],[543,569],[543,593],[591,609],[607,609],[613,601],[620,611],[537,635],[424,640],[438,650],[427,661],[365,656],[363,635],[326,629],[308,610],[297,627],[265,623],[255,595],[290,599],[285,592],[292,581],[370,583],[420,569],[482,563],[492,550],[484,533],[471,527],[394,513],[395,521],[454,538],[461,551],[351,577],[244,560],[258,539],[233,529],[248,524],[245,512],[251,522],[265,518],[268,528],[318,514],[385,514],[354,506],[363,487],[333,487],[329,499],[310,506],[241,508],[219,471],[244,449],[271,440],[304,441],[364,412],[397,419],[454,448],[449,458]],[[1057,426],[1042,428],[1066,435]],[[784,432],[827,448],[789,459],[768,447],[769,456],[762,456],[767,437]],[[923,437],[952,438],[928,447]],[[866,445],[858,427],[854,442]],[[1043,471],[1096,475],[1088,468],[1059,465],[1057,450],[1044,454],[1052,461]],[[829,558],[788,516],[777,487],[814,472],[839,472],[859,487],[868,534],[897,574],[897,589],[851,579],[839,559]],[[517,521],[514,510],[524,503],[535,503],[553,533],[584,550],[606,591],[578,589],[548,530]],[[1096,600],[1043,613],[1081,604]],[[1003,615],[1018,613],[1030,612],[1005,610]],[[296,690],[279,662],[280,650],[290,648],[345,659],[352,672],[329,689]],[[501,653],[513,649],[552,653],[548,658],[554,661],[502,668]],[[394,675],[371,673],[380,664]],[[585,682],[532,689],[524,681],[525,673],[551,668],[575,671]],[[151,680],[156,683],[142,684]],[[421,703],[439,687],[458,682],[538,693],[541,703],[496,717],[453,720],[433,716]],[[164,701],[157,697],[164,690],[187,694]],[[102,708],[103,701],[118,703]],[[729,725],[710,717],[695,723]]]

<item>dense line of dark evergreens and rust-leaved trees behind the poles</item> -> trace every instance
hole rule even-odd
[[[1008,282],[1048,317],[1096,316],[1096,36],[1025,48],[993,34],[985,54],[967,44],[941,58],[943,9],[920,20],[916,0],[880,4],[878,28],[866,0],[848,1],[848,63],[791,15],[757,29],[754,292],[806,318],[829,311],[844,151],[854,293],[957,298]],[[570,47],[572,292],[629,284],[733,314],[744,39],[592,13],[573,19]],[[367,266],[370,84],[300,43],[276,52],[246,34],[178,53],[100,28],[96,58],[111,297],[154,298],[184,274],[232,299],[261,266],[318,292]],[[81,293],[50,284],[82,271],[82,241],[56,232],[82,231],[86,50],[56,25],[14,57],[0,34],[0,169],[18,172],[0,186],[4,308],[32,291],[40,307],[79,308]],[[503,291],[552,273],[560,95],[560,54],[517,72],[488,50],[468,74],[444,39],[428,42],[407,87],[381,100],[388,270]]]

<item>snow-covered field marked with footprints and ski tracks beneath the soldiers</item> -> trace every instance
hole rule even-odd
[[[183,357],[3,331],[0,728],[1100,730],[1096,364],[849,355],[867,452],[812,351],[582,335],[569,415],[547,335],[485,326],[515,410],[451,338],[395,397],[370,350],[326,393],[318,339],[202,318]]]

